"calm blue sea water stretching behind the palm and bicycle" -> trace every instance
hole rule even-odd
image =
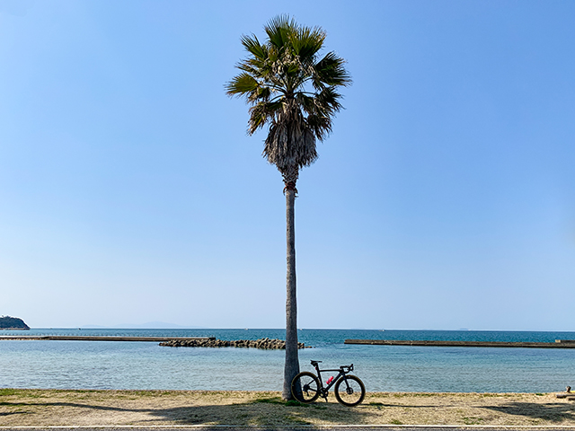
[[[0,335],[100,335],[284,339],[284,330],[30,330]],[[575,349],[344,345],[344,339],[546,341],[575,332],[299,330],[302,370],[355,365],[367,391],[548,392],[575,386]],[[0,387],[270,390],[284,351],[160,347],[155,342],[0,341]],[[328,374],[329,375],[329,374]]]

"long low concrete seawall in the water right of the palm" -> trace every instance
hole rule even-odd
[[[344,343],[364,345],[368,344],[376,346],[575,348],[575,340],[572,339],[556,339],[554,343],[505,341],[437,341],[421,339],[346,339]]]

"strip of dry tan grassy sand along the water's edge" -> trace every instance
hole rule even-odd
[[[575,402],[554,393],[368,392],[356,408],[284,402],[275,391],[0,390],[0,425],[573,426]]]

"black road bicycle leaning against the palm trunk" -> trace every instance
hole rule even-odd
[[[320,395],[327,401],[330,388],[335,385],[335,399],[344,406],[357,406],[366,396],[366,387],[355,375],[349,374],[353,371],[353,364],[341,365],[339,369],[320,370],[322,361],[312,361],[312,365],[317,371],[317,375],[309,371],[303,371],[294,377],[291,383],[291,393],[300,402],[314,402]],[[337,377],[330,377],[323,386],[322,373],[338,371]]]

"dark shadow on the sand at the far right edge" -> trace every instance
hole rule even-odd
[[[500,406],[484,406],[506,415],[523,416],[533,419],[543,419],[550,422],[575,421],[575,405],[565,402],[548,402],[538,404],[535,402],[509,402]]]

